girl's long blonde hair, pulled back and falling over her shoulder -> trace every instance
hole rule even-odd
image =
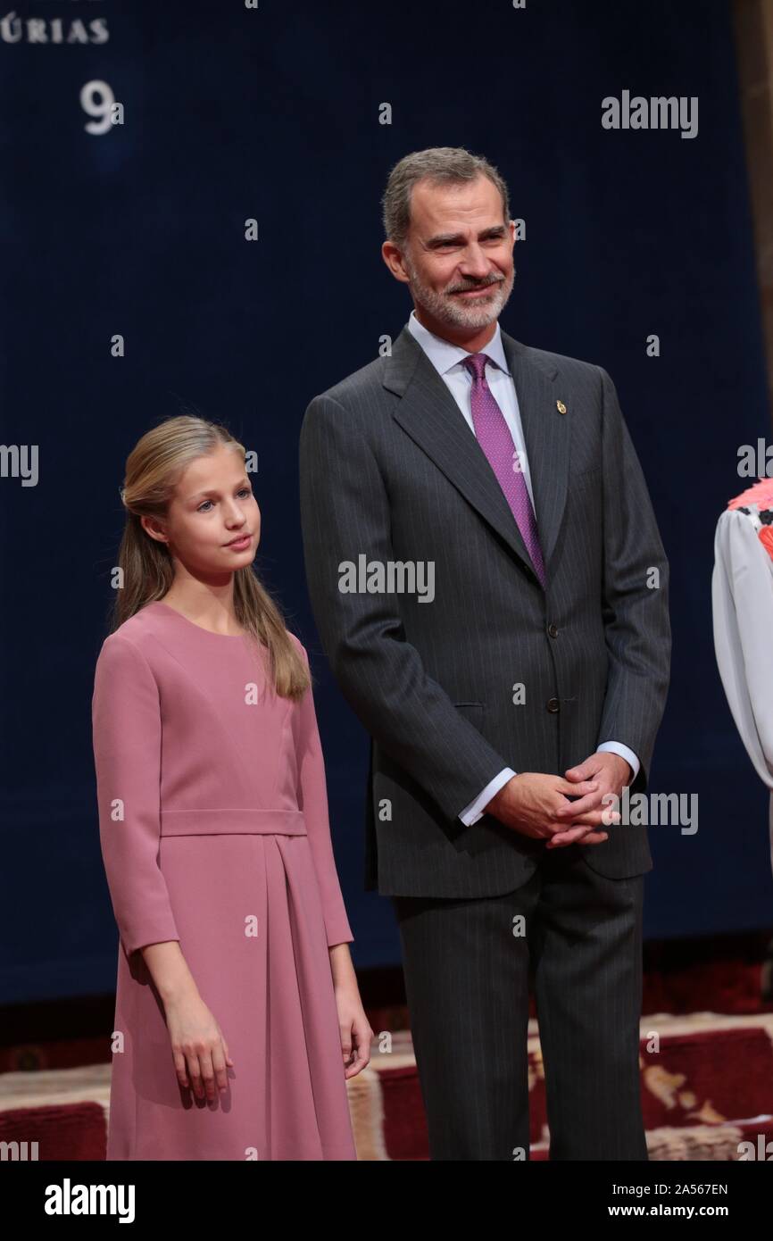
[[[163,598],[175,577],[169,547],[146,534],[140,517],[165,517],[184,470],[221,446],[246,460],[244,446],[226,427],[195,414],[180,414],[145,432],[129,453],[120,488],[127,510],[118,552],[123,589],[117,591],[112,630],[146,603]],[[282,697],[300,697],[310,685],[305,660],[252,565],[235,570],[233,604],[239,625],[266,648],[269,684],[275,692]]]

